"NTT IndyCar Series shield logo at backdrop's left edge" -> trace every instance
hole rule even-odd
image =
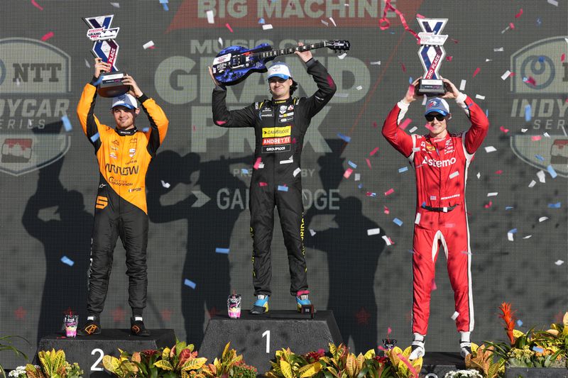
[[[71,58],[28,38],[0,40],[0,172],[19,176],[70,148],[62,117],[71,96]]]

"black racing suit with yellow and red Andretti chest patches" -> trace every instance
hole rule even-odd
[[[226,108],[226,89],[213,90],[213,121],[223,127],[253,127],[256,147],[251,178],[251,236],[254,295],[271,295],[271,241],[274,207],[278,208],[290,267],[290,294],[307,290],[304,206],[300,156],[310,121],[332,99],[336,87],[317,60],[307,63],[317,84],[310,97],[255,102],[244,109]]]

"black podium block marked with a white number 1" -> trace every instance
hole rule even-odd
[[[270,311],[266,315],[243,311],[240,319],[217,315],[209,320],[200,357],[220,357],[229,341],[247,364],[264,374],[276,350],[290,348],[300,354],[327,350],[329,343],[342,343],[342,336],[332,311],[317,311],[313,319],[296,311]]]

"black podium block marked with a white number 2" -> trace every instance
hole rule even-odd
[[[38,351],[62,349],[68,362],[77,362],[84,370],[83,377],[109,377],[102,367],[103,355],[119,357],[118,348],[127,352],[172,347],[175,344],[173,330],[150,330],[150,337],[133,336],[130,330],[103,329],[100,335],[65,338],[60,334],[45,336]],[[37,353],[35,360],[38,360]],[[37,361],[35,362],[37,363]]]

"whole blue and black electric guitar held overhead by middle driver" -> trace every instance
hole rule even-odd
[[[242,46],[229,46],[217,54],[211,69],[217,82],[224,85],[234,85],[242,82],[252,72],[266,72],[266,63],[279,55],[293,54],[296,51],[307,51],[317,48],[329,48],[334,52],[345,52],[349,50],[349,47],[348,40],[326,40],[319,43],[277,50],[273,50],[268,43],[262,43],[251,50]]]

